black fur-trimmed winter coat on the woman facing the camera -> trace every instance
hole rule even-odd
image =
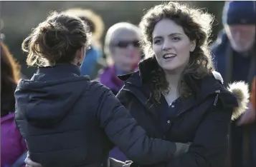
[[[149,135],[173,142],[191,142],[189,152],[165,164],[169,167],[223,167],[227,158],[229,123],[240,116],[247,106],[247,86],[234,83],[229,90],[222,77],[214,75],[196,80],[186,75],[185,81],[193,95],[182,101],[173,118],[166,121],[166,131],[159,126],[158,105],[147,102],[151,92],[153,61],[139,64],[139,71],[119,76],[125,86],[117,97],[128,108]],[[139,164],[141,165],[141,164]],[[159,164],[160,165],[160,164]]]

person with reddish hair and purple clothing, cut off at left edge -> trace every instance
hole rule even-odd
[[[14,91],[20,79],[20,66],[0,41],[1,51],[1,167],[22,166],[27,146],[14,121]]]

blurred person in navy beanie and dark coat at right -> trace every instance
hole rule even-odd
[[[212,45],[217,71],[224,84],[252,83],[256,74],[255,1],[227,1],[222,22],[224,29]],[[230,129],[230,167],[256,166],[255,108],[250,103]]]

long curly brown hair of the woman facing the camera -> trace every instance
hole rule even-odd
[[[208,41],[212,32],[214,18],[202,9],[193,9],[187,4],[179,4],[177,2],[169,2],[168,4],[152,7],[142,17],[139,24],[143,34],[141,45],[146,59],[156,60],[152,49],[152,33],[161,19],[171,19],[184,29],[184,33],[189,37],[190,41],[196,41],[196,47],[191,52],[189,63],[182,72],[181,80],[179,81],[179,95],[181,98],[187,98],[191,95],[191,88],[184,81],[184,75],[189,74],[194,79],[202,79],[214,70]],[[153,82],[151,97],[158,102],[161,92],[169,92],[169,83],[159,65],[156,70],[151,71],[151,77]]]

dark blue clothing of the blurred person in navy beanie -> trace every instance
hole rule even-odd
[[[222,74],[224,84],[227,86],[233,81],[245,81],[251,88],[252,79],[256,76],[255,60],[256,60],[256,43],[247,57],[237,53],[230,46],[227,33],[223,30],[219,33],[218,39],[212,45],[212,53],[214,55],[214,64],[217,71]],[[254,132],[253,128],[256,123],[247,126],[237,126],[237,121],[233,121],[230,126],[230,145],[229,145],[229,166],[253,166],[251,163],[253,148]]]

